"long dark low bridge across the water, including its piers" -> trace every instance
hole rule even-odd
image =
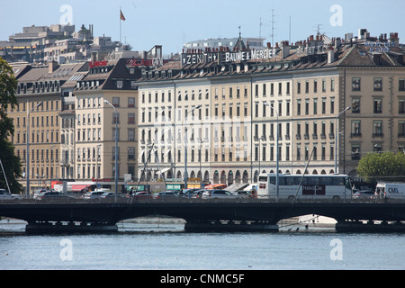
[[[0,215],[26,221],[28,233],[117,231],[119,221],[145,216],[184,219],[186,231],[278,231],[280,220],[308,214],[337,220],[340,231],[405,231],[405,202],[275,202],[266,198],[0,202]]]

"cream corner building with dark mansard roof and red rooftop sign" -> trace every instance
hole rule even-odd
[[[139,68],[127,66],[128,59],[94,61],[88,73],[77,81],[75,94],[76,132],[75,179],[92,181],[118,175],[136,175],[138,154]],[[118,155],[115,139],[118,138]]]

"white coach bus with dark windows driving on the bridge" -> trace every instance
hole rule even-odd
[[[277,198],[276,175],[261,174],[257,196]],[[301,184],[301,185],[300,185]],[[284,175],[279,174],[279,200],[351,200],[352,184],[348,175]]]

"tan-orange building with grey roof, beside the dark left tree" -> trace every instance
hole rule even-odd
[[[9,112],[15,128],[12,141],[23,164],[24,178],[20,181],[25,186],[29,174],[31,190],[50,186],[52,179],[61,176],[61,142],[65,141],[65,135],[61,135],[59,113],[73,91],[73,76],[86,69],[85,63],[14,66],[19,84],[17,109]]]

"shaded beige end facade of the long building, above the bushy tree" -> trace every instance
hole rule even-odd
[[[356,163],[367,153],[404,151],[405,55],[392,48],[370,55],[369,47],[354,47],[367,67],[347,67],[345,102],[345,157],[341,171],[354,174]],[[353,62],[353,61],[352,61]]]

